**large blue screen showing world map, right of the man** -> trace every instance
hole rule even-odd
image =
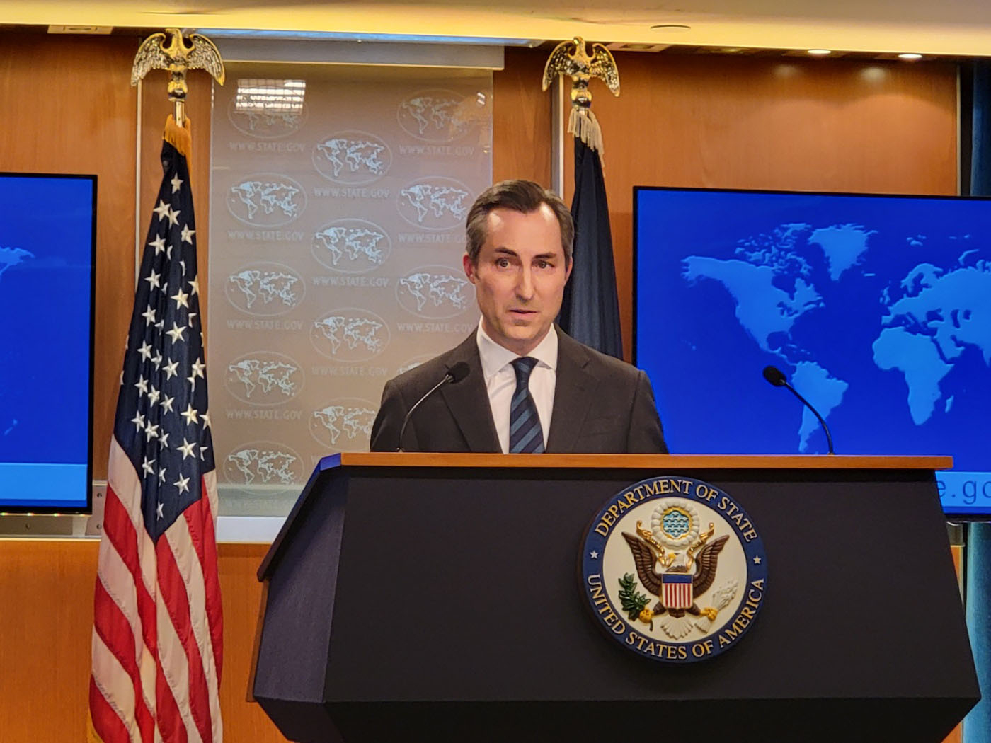
[[[634,360],[684,454],[952,455],[991,514],[991,200],[634,192]]]

